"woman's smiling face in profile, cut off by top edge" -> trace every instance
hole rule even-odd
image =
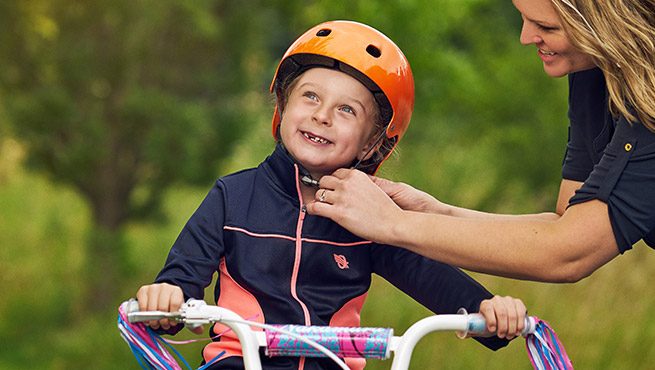
[[[539,58],[544,62],[544,70],[551,77],[593,68],[591,58],[569,42],[550,1],[513,0],[523,18],[521,43],[535,44]]]

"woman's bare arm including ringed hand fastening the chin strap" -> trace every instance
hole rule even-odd
[[[618,255],[607,205],[597,200],[569,207],[561,217],[453,217],[403,210],[359,171],[341,169],[320,184],[328,189],[325,202],[308,205],[310,213],[360,237],[472,271],[573,282]],[[563,182],[558,210],[574,185]]]

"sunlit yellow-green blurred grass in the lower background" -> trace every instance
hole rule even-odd
[[[12,153],[7,146],[0,152],[0,369],[139,369],[115,326],[120,301],[103,313],[83,309],[87,205],[70,189],[11,165]],[[121,287],[124,299],[154,278],[205,193],[177,188],[166,198],[166,224],[128,227],[128,262],[135,268]],[[576,369],[649,369],[655,363],[653,258],[640,244],[571,285],[475,276],[497,294],[521,297],[530,314],[549,321]],[[375,279],[362,315],[365,326],[402,334],[429,312]],[[411,368],[531,369],[523,342],[491,352],[473,340],[434,333],[419,343]],[[203,345],[177,348],[197,364]],[[389,366],[373,360],[368,368]]]

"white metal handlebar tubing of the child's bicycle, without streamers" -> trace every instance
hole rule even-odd
[[[325,348],[325,343],[320,343],[320,341],[307,340],[306,338],[298,338],[296,334],[293,334],[289,331],[285,331],[279,327],[272,327],[270,325],[257,324],[244,320],[242,317],[236,313],[219,306],[207,305],[204,301],[191,299],[185,303],[179,312],[162,312],[162,311],[146,311],[138,312],[138,304],[136,301],[132,300],[128,304],[127,309],[127,318],[129,322],[141,322],[141,321],[154,321],[161,320],[164,318],[169,318],[176,320],[178,322],[184,323],[189,327],[211,324],[211,323],[221,323],[226,325],[237,335],[239,341],[241,342],[241,348],[243,352],[243,361],[245,368],[247,370],[261,370],[261,360],[259,357],[259,348],[267,348],[272,350],[270,347],[273,341],[270,340],[270,336],[267,337],[266,331],[254,331],[251,329],[251,326],[261,326],[267,329],[283,332],[285,335],[290,335],[296,339],[299,339],[305,343],[316,347],[320,352],[323,353],[326,357],[330,357],[335,362],[337,362],[342,368],[348,369],[348,367],[339,359],[334,353]],[[304,328],[304,329],[313,329],[321,331],[323,329],[334,331],[334,327],[316,327],[316,326],[293,326],[295,328]],[[322,329],[323,328],[323,329]],[[525,329],[521,333],[524,337],[533,334],[535,332],[535,318],[526,317]],[[353,331],[353,330],[362,330],[367,328],[337,328],[343,329],[344,331]],[[380,328],[368,328],[368,329],[380,329]],[[425,335],[435,332],[435,331],[456,331],[460,338],[465,338],[467,336],[477,336],[477,335],[492,335],[486,330],[486,321],[481,314],[468,314],[465,310],[460,310],[460,313],[453,315],[434,315],[426,317],[422,320],[414,323],[402,336],[394,336],[393,330],[390,330],[386,340],[386,343],[375,343],[375,345],[380,346],[381,352],[377,355],[372,356],[363,356],[369,358],[389,358],[390,352],[394,353],[393,361],[391,364],[391,370],[407,370],[409,368],[409,363],[411,360],[412,352],[418,341],[423,338]],[[267,340],[268,338],[268,340]],[[352,338],[349,338],[352,339]],[[284,341],[288,343],[288,340]],[[319,342],[319,343],[316,343]],[[369,344],[366,344],[369,347]],[[286,352],[287,349],[282,349],[281,352],[278,352],[277,355],[285,356],[294,356],[298,355],[296,350],[300,347],[294,347],[290,349],[291,352]],[[276,350],[280,350],[277,348]],[[306,350],[304,346],[303,350]],[[320,355],[319,355],[320,356]]]

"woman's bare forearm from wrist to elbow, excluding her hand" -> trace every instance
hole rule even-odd
[[[467,219],[402,211],[388,244],[465,269],[575,282],[618,255],[607,206],[589,201],[556,221]]]

